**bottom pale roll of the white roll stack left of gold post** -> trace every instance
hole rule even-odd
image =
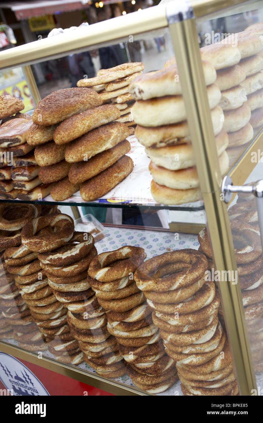
[[[172,188],[157,184],[154,180],[151,182],[151,194],[157,203],[166,205],[192,203],[202,198],[199,188],[173,190]]]

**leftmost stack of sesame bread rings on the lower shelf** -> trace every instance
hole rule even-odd
[[[38,217],[40,214],[40,205],[0,204],[0,226],[1,231],[3,231],[0,243],[3,242],[6,247],[2,253],[6,274],[1,275],[1,280],[5,277],[7,282],[5,286],[1,284],[0,295],[5,299],[6,305],[2,309],[2,314],[8,319],[13,329],[13,338],[20,347],[28,351],[43,351],[47,349],[47,345],[44,343],[44,336],[34,323],[30,308],[23,297],[24,292],[16,281],[17,277],[31,277],[34,271],[37,272],[39,270],[37,256],[22,246],[21,232],[28,221]],[[4,232],[7,234],[6,236]],[[14,233],[16,235],[13,235]],[[10,241],[8,241],[8,238],[10,238]]]

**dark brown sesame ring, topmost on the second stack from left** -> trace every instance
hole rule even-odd
[[[36,235],[38,231],[51,226],[56,232]],[[74,222],[67,214],[49,214],[37,217],[24,225],[21,232],[22,243],[31,251],[43,253],[66,244],[73,236]]]

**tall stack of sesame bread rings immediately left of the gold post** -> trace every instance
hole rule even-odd
[[[217,316],[219,294],[214,282],[205,281],[207,268],[202,253],[176,250],[145,261],[134,279],[153,310],[165,352],[176,362],[184,395],[236,395],[231,361],[219,360],[227,342]]]

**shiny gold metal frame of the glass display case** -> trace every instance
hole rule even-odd
[[[180,3],[180,2],[179,2]],[[255,2],[254,2],[255,3]],[[201,58],[195,27],[195,19],[185,19],[182,16],[176,19],[176,12],[182,6],[190,5],[196,17],[205,16],[221,10],[222,8],[236,8],[238,5],[250,4],[245,0],[190,0],[190,3],[177,1],[164,3],[141,12],[131,13],[118,18],[99,22],[85,29],[79,29],[74,33],[46,38],[35,41],[24,46],[15,47],[0,53],[0,69],[8,69],[16,66],[36,63],[45,58],[61,57],[72,52],[78,52],[87,47],[96,48],[113,44],[120,38],[125,39],[130,34],[137,35],[150,30],[157,30],[169,26],[171,38],[174,45],[176,60],[179,69],[179,78],[182,85],[187,115],[191,116],[190,135],[193,141],[198,176],[200,179],[203,201],[205,204],[207,222],[211,239],[211,246],[215,258],[217,270],[236,270],[236,259],[234,255],[233,239],[230,231],[227,206],[221,201],[221,176],[214,139],[206,86],[201,66]],[[174,15],[173,15],[173,7]],[[166,16],[168,13],[168,16]],[[168,23],[169,21],[169,23]],[[94,43],[94,40],[95,43]],[[40,44],[41,43],[41,44]],[[242,182],[252,170],[250,152],[257,145],[262,145],[262,135],[259,135],[246,154],[241,158],[241,166],[231,171],[230,176],[234,183]],[[246,168],[243,171],[243,168]],[[242,170],[242,171],[241,171]],[[250,395],[251,390],[256,387],[255,374],[252,365],[250,346],[247,335],[247,327],[244,320],[244,308],[241,298],[239,284],[221,283],[220,291],[223,306],[225,309],[225,320],[228,327],[228,336],[233,351],[236,365],[236,376],[239,382],[241,395]],[[14,346],[3,342],[0,346],[6,352],[34,362],[33,354],[24,352]],[[44,363],[44,362],[43,362]],[[78,368],[71,369],[69,366],[55,363],[53,360],[45,359],[46,368],[62,374],[70,374],[70,377],[78,379],[82,376],[86,383],[95,383],[95,379],[102,381],[100,377],[82,375],[84,372]],[[39,364],[39,361],[38,363]],[[45,367],[43,365],[43,367]],[[48,367],[51,366],[51,367]],[[79,375],[82,376],[79,376]],[[88,382],[89,379],[90,381]],[[84,381],[83,379],[83,381]],[[81,379],[82,380],[82,379]],[[109,390],[110,386],[116,386],[116,382],[106,382],[101,389]],[[97,386],[98,386],[97,385]],[[115,389],[115,388],[114,388]],[[137,393],[136,389],[122,388],[127,395]],[[109,390],[111,392],[111,390]],[[120,392],[120,391],[119,391]],[[145,395],[142,393],[141,395]]]

